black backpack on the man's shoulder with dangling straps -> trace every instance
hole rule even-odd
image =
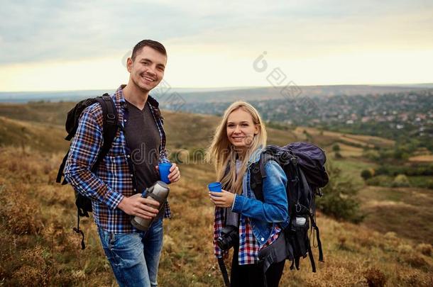
[[[65,140],[72,140],[72,137],[74,137],[75,133],[77,133],[78,123],[82,111],[84,111],[84,108],[92,106],[92,104],[94,103],[99,103],[101,105],[102,113],[104,115],[104,145],[102,146],[102,149],[98,154],[97,160],[92,167],[92,171],[95,171],[97,169],[99,163],[102,162],[102,159],[109,152],[114,137],[116,136],[118,128],[118,116],[114,101],[111,99],[109,94],[104,94],[96,98],[82,100],[78,102],[74,108],[67,112],[67,118],[65,123],[65,128],[67,131],[67,136],[65,137]],[[61,182],[62,185],[67,184],[67,181],[65,179],[63,179],[62,181],[62,176],[65,175],[63,174],[63,170],[65,169],[68,154],[69,150],[65,154],[65,157],[63,157],[62,164],[60,164],[59,171],[57,172],[56,182],[59,184]],[[77,227],[74,227],[73,230],[82,235],[81,247],[82,249],[84,249],[86,248],[86,245],[84,244],[84,233],[82,232],[82,230],[80,230],[80,216],[85,216],[87,218],[89,217],[89,212],[92,212],[92,201],[89,198],[82,196],[81,193],[75,191],[75,205],[77,206]]]

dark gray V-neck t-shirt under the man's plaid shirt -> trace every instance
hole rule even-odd
[[[140,110],[126,101],[126,108],[129,113],[125,125],[126,142],[136,169],[138,191],[143,192],[160,179],[155,170],[159,158],[160,133],[148,103]]]

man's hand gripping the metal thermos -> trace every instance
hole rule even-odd
[[[150,205],[150,206],[148,206]],[[124,213],[133,216],[139,216],[143,219],[152,219],[158,215],[160,203],[153,198],[142,198],[141,193],[134,194],[130,197],[124,197],[119,203],[118,208],[124,210]]]

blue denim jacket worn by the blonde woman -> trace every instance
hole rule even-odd
[[[268,241],[275,225],[285,227],[289,222],[287,209],[287,194],[285,186],[287,176],[280,165],[270,160],[265,164],[266,177],[263,180],[263,198],[265,202],[259,201],[251,190],[250,179],[251,164],[258,162],[262,148],[251,155],[248,161],[248,169],[243,175],[242,195],[236,194],[231,210],[243,216],[251,218],[251,227],[256,240],[261,244]]]

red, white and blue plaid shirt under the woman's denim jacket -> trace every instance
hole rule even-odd
[[[221,235],[222,227],[224,227],[224,212],[223,208],[215,208],[214,220],[214,254],[216,257],[222,257],[223,251],[217,245],[217,238]],[[255,264],[258,262],[258,252],[260,249],[267,247],[277,240],[281,229],[277,225],[270,234],[268,241],[265,244],[260,244],[253,234],[250,219],[240,215],[239,219],[239,265]]]

